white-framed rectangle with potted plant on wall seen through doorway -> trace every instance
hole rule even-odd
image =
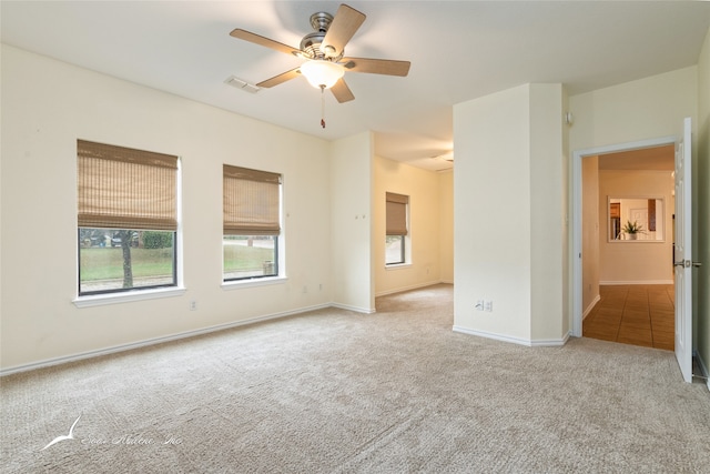
[[[609,242],[662,242],[663,200],[609,196]]]

